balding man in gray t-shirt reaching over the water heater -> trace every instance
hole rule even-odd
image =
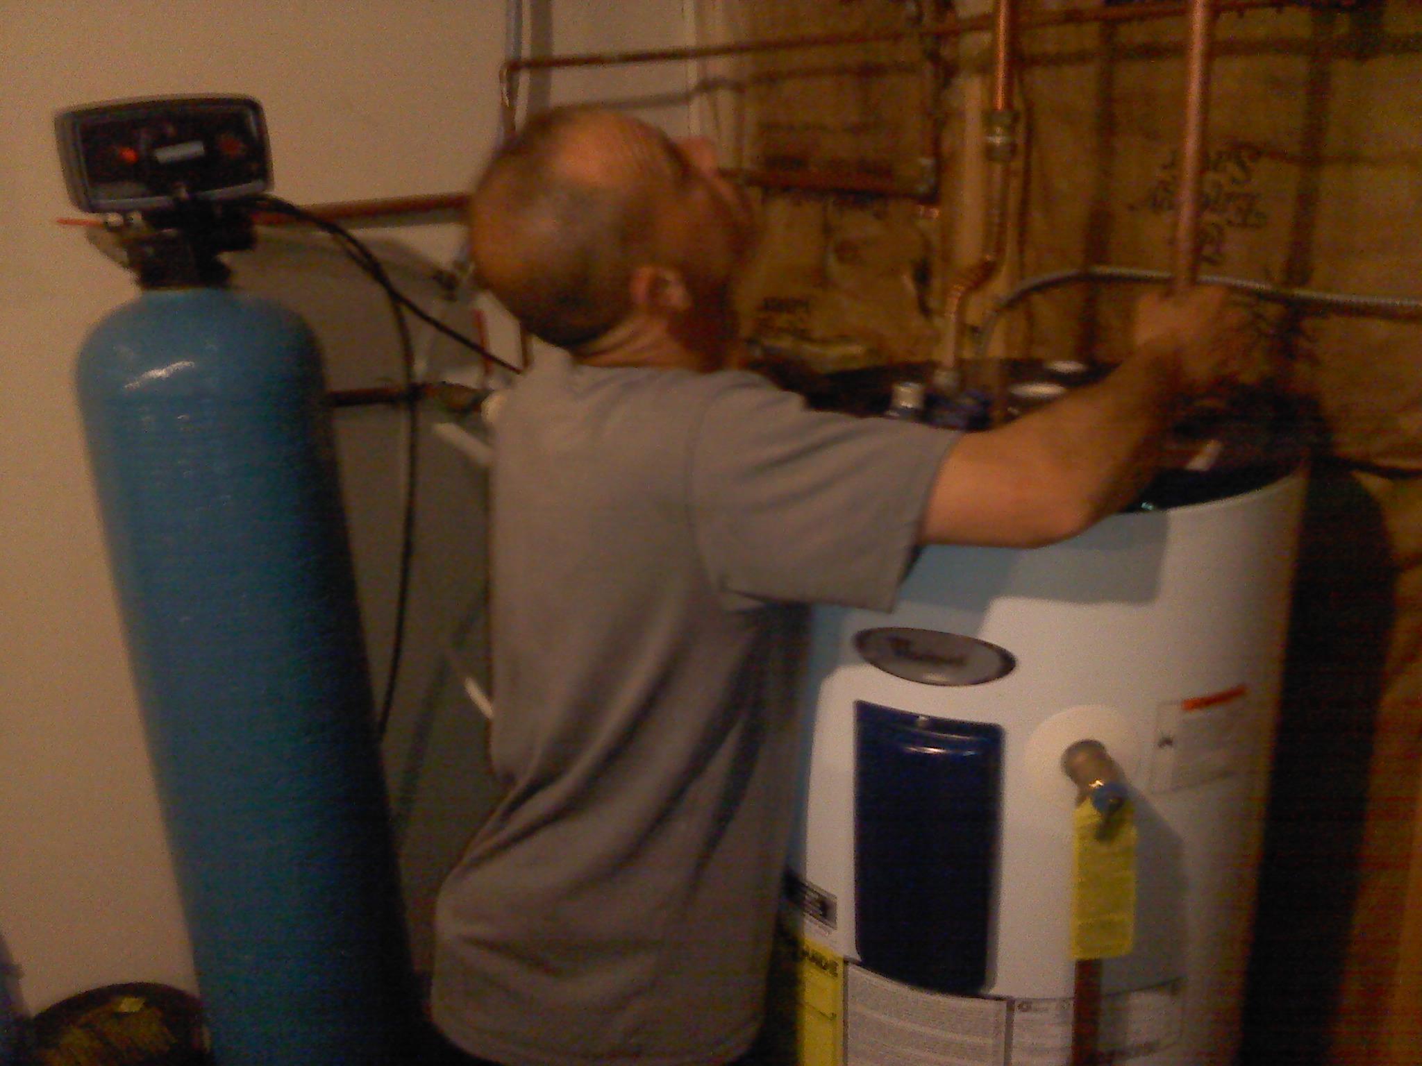
[[[1237,324],[1148,303],[1111,378],[1000,429],[809,412],[728,370],[751,212],[710,145],[533,119],[471,206],[540,355],[495,429],[503,799],[441,894],[434,1018],[508,1066],[711,1066],[761,1022],[805,604],[893,604],[924,543],[1045,544],[1129,502]]]

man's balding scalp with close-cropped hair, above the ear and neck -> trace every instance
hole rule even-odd
[[[630,310],[633,267],[657,256],[657,206],[675,155],[611,111],[533,118],[489,163],[471,200],[479,279],[535,335],[592,341]]]

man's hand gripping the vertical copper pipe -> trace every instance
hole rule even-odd
[[[1180,388],[1202,395],[1236,377],[1254,347],[1249,316],[1229,304],[1229,290],[1196,286],[1179,296],[1148,293],[1132,330],[1140,355],[1175,355]]]

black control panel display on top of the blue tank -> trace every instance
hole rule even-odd
[[[88,212],[171,210],[272,186],[262,105],[250,97],[156,97],[61,111],[70,200]]]

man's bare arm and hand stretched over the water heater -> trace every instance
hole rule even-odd
[[[920,543],[1039,547],[1116,513],[1153,476],[1182,397],[1213,384],[1244,337],[1223,290],[1146,297],[1136,350],[1105,381],[948,452]]]

